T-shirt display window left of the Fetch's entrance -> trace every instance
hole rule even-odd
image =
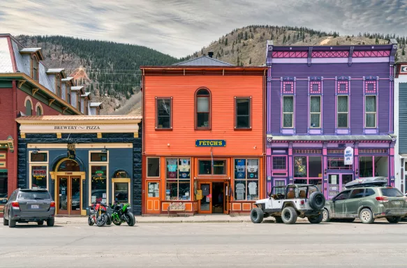
[[[165,200],[191,200],[191,159],[167,158]]]

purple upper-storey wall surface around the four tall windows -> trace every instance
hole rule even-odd
[[[308,112],[308,77],[324,77],[323,80],[323,134],[335,134],[336,127],[336,91],[335,77],[350,76],[350,135],[362,135],[364,127],[364,81],[362,77],[378,76],[378,128],[380,134],[390,132],[390,68],[389,62],[363,64],[272,64],[272,82],[269,83],[271,96],[271,117],[267,119],[269,131],[273,135],[281,134],[281,82],[280,77],[296,77],[295,87],[295,130],[296,135],[307,135],[309,124]]]

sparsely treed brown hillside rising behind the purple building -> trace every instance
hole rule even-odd
[[[397,59],[406,61],[406,36],[369,33],[340,36],[336,32],[327,33],[303,27],[256,25],[235,29],[210,45],[202,47],[201,51],[195,52],[188,58],[200,57],[212,50],[216,59],[236,65],[258,66],[265,64],[267,40],[273,40],[274,45],[375,45],[387,44],[390,38],[398,40]]]

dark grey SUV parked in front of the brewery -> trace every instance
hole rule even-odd
[[[15,227],[15,223],[36,222],[54,226],[55,202],[44,189],[17,189],[4,206],[3,225]]]

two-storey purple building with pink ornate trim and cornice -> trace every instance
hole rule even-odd
[[[394,185],[396,51],[392,40],[332,47],[267,42],[268,191],[309,183],[332,198],[353,179],[383,176]]]

